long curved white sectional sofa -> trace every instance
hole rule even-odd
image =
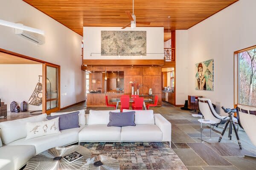
[[[123,110],[123,112],[131,110]],[[120,112],[114,110],[112,112]],[[67,112],[66,112],[67,113]],[[52,113],[52,116],[65,113]],[[47,120],[42,114],[25,119],[1,122],[0,170],[19,170],[29,159],[52,147],[76,142],[170,142],[171,123],[152,110],[135,111],[136,126],[107,126],[109,111],[84,110],[79,113],[79,128],[25,140],[26,122]],[[3,143],[3,146],[2,146]],[[169,143],[170,144],[170,143]]]

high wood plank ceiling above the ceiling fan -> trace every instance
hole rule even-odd
[[[83,36],[83,26],[125,26],[132,0],[23,0]],[[134,0],[137,21],[188,29],[238,0]],[[168,18],[170,16],[170,19]],[[168,21],[169,20],[169,21]],[[137,26],[144,26],[137,24]]]

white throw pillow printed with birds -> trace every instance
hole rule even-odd
[[[27,122],[27,136],[25,140],[36,138],[39,136],[61,133],[59,130],[59,118],[43,121],[43,122]]]

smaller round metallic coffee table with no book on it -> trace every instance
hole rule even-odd
[[[98,165],[96,164],[98,163]],[[81,167],[81,170],[120,170],[119,161],[108,156],[94,156]]]

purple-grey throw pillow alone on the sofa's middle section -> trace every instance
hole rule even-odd
[[[114,113],[109,112],[108,126],[136,126],[134,123],[135,111]]]

